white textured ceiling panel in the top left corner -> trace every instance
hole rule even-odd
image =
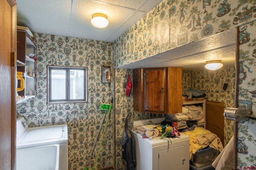
[[[71,0],[16,0],[17,20],[33,32],[66,35]],[[36,5],[35,5],[36,4]]]

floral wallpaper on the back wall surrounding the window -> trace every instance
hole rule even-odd
[[[99,142],[89,159],[104,115],[100,104],[110,104],[114,98],[114,70],[111,68],[111,83],[101,81],[101,66],[112,66],[112,44],[44,33],[34,33],[34,41],[36,97],[18,104],[17,115],[23,116],[29,127],[68,124],[68,169],[84,170],[86,164],[94,165],[98,153]],[[88,102],[47,104],[47,65],[87,67]],[[114,141],[112,111],[97,162],[99,168],[113,166]]]

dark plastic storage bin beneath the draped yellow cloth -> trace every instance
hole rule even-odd
[[[212,164],[218,154],[218,150],[210,147],[200,149],[195,154],[192,154],[190,164],[194,165],[196,168],[202,168],[204,166]]]

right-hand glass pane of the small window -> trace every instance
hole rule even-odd
[[[70,69],[70,100],[84,99],[84,70]]]

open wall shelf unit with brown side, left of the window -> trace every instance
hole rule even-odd
[[[36,54],[36,45],[26,31],[17,31],[17,71],[24,72],[24,90],[18,92],[24,98],[36,95],[36,62],[29,56]]]

